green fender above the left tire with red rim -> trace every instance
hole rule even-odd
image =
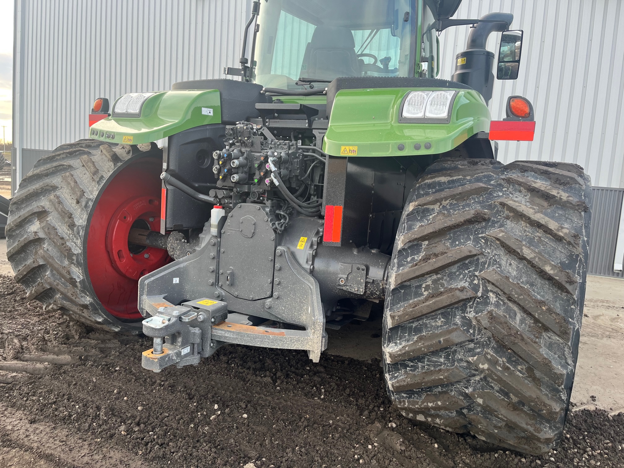
[[[217,89],[160,91],[145,100],[140,117],[107,117],[90,127],[89,136],[138,145],[220,123],[221,95]]]

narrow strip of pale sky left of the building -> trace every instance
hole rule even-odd
[[[0,0],[0,125],[6,125],[11,141],[11,100],[13,80],[13,0]],[[0,140],[2,128],[0,127]],[[0,148],[0,152],[2,149]]]

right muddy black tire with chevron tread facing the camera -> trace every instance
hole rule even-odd
[[[383,355],[404,416],[531,454],[562,437],[585,298],[575,164],[434,163],[401,218]]]

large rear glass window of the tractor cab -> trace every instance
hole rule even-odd
[[[414,76],[414,0],[265,0],[258,16],[253,80]]]

